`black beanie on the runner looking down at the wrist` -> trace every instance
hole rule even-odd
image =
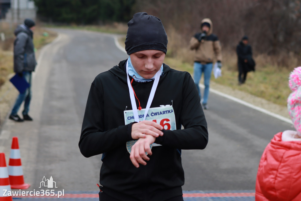
[[[148,49],[160,50],[166,54],[167,35],[161,20],[147,13],[136,13],[128,22],[126,53],[128,55]]]

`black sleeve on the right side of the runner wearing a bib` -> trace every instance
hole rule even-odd
[[[204,149],[208,143],[207,122],[193,79],[187,73],[183,83],[181,124],[185,129],[163,130],[156,143],[179,149]]]

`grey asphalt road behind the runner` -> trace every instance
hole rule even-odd
[[[57,29],[59,37],[40,55],[33,80],[33,122],[6,120],[0,151],[8,164],[11,137],[19,137],[29,190],[39,190],[43,176],[56,190],[97,191],[101,155],[85,158],[78,148],[90,85],[101,72],[126,59],[111,35]],[[254,190],[261,154],[274,134],[293,129],[275,119],[216,94],[205,111],[209,143],[204,150],[183,150],[183,190]]]

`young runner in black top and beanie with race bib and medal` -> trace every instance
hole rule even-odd
[[[163,63],[167,42],[159,18],[134,14],[129,58],[92,82],[79,149],[85,157],[102,154],[101,201],[183,201],[181,149],[208,143],[191,75]]]

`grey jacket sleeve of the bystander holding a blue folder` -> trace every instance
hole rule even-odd
[[[14,42],[14,72],[22,72],[24,69],[24,52],[28,35],[20,33]]]

